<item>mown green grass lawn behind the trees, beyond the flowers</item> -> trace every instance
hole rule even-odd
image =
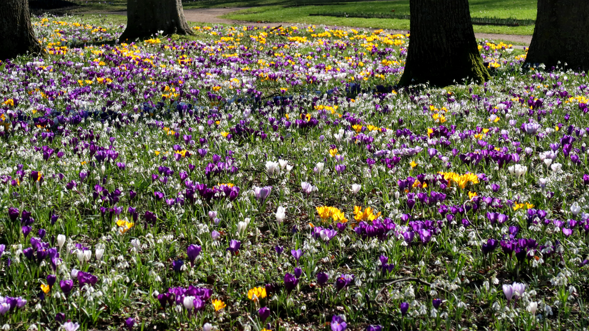
[[[326,0],[323,2],[336,2],[337,0]],[[104,11],[124,11],[127,1],[74,1],[80,4],[72,12],[104,12]],[[316,2],[315,2],[316,3]],[[183,1],[184,9],[196,8],[218,8],[218,7],[248,7],[242,11],[232,12],[224,15],[227,19],[238,19],[240,21],[252,22],[290,22],[303,24],[326,24],[340,25],[349,27],[363,28],[385,28],[396,30],[408,30],[408,19],[390,19],[390,18],[342,18],[342,17],[325,17],[313,16],[321,12],[381,12],[389,13],[393,9],[396,14],[409,14],[409,0],[395,1],[356,1],[348,2],[343,5],[305,5],[296,7],[284,7],[295,4],[313,4],[310,0],[209,0],[209,1]],[[472,17],[497,17],[497,18],[517,18],[517,19],[535,19],[536,1],[533,0],[471,0],[470,1]],[[497,25],[474,25],[475,32],[496,33],[496,34],[520,34],[531,35],[534,32],[533,25],[520,27],[504,27]]]

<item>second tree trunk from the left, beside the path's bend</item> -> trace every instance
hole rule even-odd
[[[160,35],[193,34],[182,9],[182,0],[127,0],[127,28],[119,41]]]

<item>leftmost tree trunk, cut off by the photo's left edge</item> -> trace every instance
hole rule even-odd
[[[0,60],[42,53],[31,26],[27,0],[0,0]]]

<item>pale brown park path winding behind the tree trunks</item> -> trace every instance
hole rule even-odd
[[[184,17],[189,22],[203,22],[207,24],[241,24],[241,25],[253,25],[256,27],[277,27],[278,25],[283,26],[292,26],[292,25],[302,25],[296,23],[286,23],[286,22],[274,22],[274,23],[258,23],[258,22],[249,22],[249,21],[238,21],[235,19],[225,19],[220,18],[225,14],[229,14],[230,12],[239,11],[241,9],[247,9],[247,7],[236,7],[236,8],[203,8],[203,9],[185,9],[184,10]],[[120,12],[101,12],[101,13],[85,13],[85,14],[110,14],[110,15],[127,15],[127,12],[120,11]],[[328,28],[333,28],[333,25],[326,25]],[[341,27],[340,27],[341,28]],[[353,27],[352,27],[353,28]],[[359,28],[356,28],[359,29]],[[375,29],[371,29],[375,30]],[[388,32],[393,33],[406,33],[406,30],[386,30]],[[515,34],[486,34],[486,33],[475,33],[475,38],[477,39],[485,39],[485,40],[504,40],[509,42],[521,42],[526,45],[530,45],[532,41],[531,35],[515,35]],[[522,49],[524,46],[515,45],[514,48]]]

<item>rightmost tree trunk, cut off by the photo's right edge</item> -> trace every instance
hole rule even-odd
[[[589,1],[538,0],[536,15],[525,62],[589,70]]]

